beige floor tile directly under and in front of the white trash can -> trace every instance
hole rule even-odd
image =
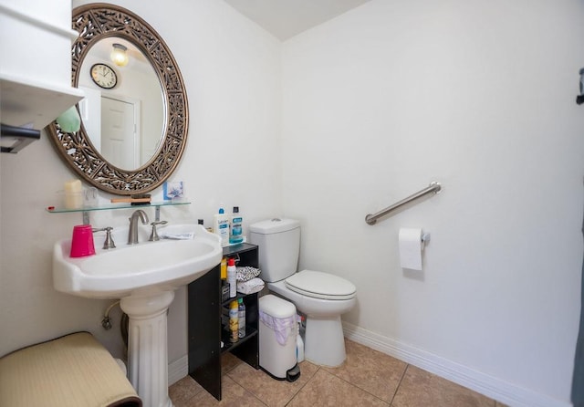
[[[264,370],[255,370],[241,363],[231,370],[228,376],[267,406],[282,407],[314,376],[317,370],[318,366],[303,361],[300,363],[300,377],[297,381],[278,381]]]

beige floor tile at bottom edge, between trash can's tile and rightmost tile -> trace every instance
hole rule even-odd
[[[381,401],[323,369],[319,369],[314,378],[298,391],[292,402],[287,404],[288,407],[389,407],[389,405],[388,402]]]

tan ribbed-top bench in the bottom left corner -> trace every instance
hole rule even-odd
[[[141,407],[120,366],[89,332],[0,358],[0,406]]]

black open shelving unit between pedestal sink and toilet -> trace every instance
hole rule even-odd
[[[258,266],[257,245],[243,243],[224,247],[224,257],[234,257],[237,266]],[[257,293],[237,293],[221,300],[221,267],[193,281],[188,286],[189,375],[214,398],[221,401],[221,354],[231,352],[245,363],[259,369]],[[238,298],[244,298],[245,338],[229,341],[229,332],[222,327],[224,308]],[[221,342],[224,346],[221,347]]]

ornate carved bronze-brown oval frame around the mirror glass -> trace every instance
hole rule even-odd
[[[81,123],[75,132],[61,130],[57,121],[47,126],[49,139],[61,159],[81,178],[108,193],[147,193],[160,186],[183,155],[188,132],[188,104],[181,71],[162,37],[141,17],[118,5],[92,3],[73,9],[73,29],[79,37],[71,49],[71,83],[78,87],[81,64],[89,49],[105,37],[121,37],[150,61],[162,88],[166,119],[162,141],[149,162],[137,170],[122,170],[96,151]],[[77,107],[78,109],[78,107]]]

